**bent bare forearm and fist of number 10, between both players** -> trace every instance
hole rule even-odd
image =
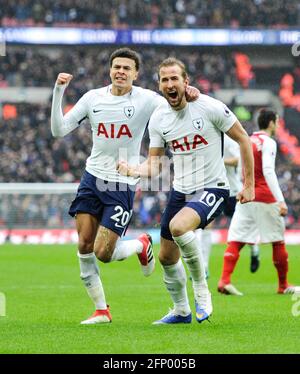
[[[164,154],[164,148],[150,148],[149,156],[142,164],[132,166],[120,160],[117,170],[120,174],[133,178],[157,176],[160,171],[160,157]]]

